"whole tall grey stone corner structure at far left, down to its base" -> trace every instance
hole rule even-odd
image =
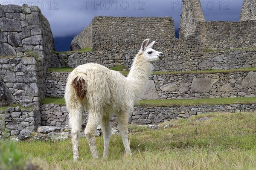
[[[52,50],[51,28],[38,6],[0,5],[0,106],[35,107],[1,110],[1,131],[7,128],[7,135],[41,125],[40,101],[46,94]]]

